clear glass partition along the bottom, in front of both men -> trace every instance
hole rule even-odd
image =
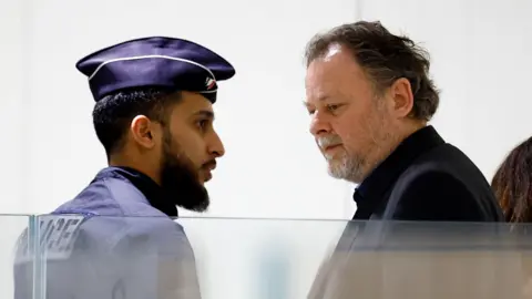
[[[29,223],[18,251],[28,254],[14,259],[17,299],[532,298],[528,226],[74,215]]]

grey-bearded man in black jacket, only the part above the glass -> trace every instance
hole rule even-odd
[[[331,176],[359,184],[354,219],[499,221],[479,168],[428,125],[440,102],[427,52],[380,22],[306,49],[310,133]]]

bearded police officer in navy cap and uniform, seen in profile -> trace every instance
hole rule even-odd
[[[224,155],[213,104],[234,68],[205,47],[163,37],[105,48],[76,68],[89,79],[109,167],[39,218],[40,238],[22,236],[16,298],[35,290],[59,299],[200,298],[192,247],[173,218],[176,206],[208,207],[204,183]],[[35,265],[45,288],[31,287]]]

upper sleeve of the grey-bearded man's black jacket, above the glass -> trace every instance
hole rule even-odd
[[[396,182],[388,215],[400,220],[495,221],[494,198],[485,186],[466,181],[452,165],[426,159]]]

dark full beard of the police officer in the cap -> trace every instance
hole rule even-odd
[[[168,200],[182,208],[205,212],[209,205],[207,189],[200,183],[198,172],[192,161],[164,134],[161,165],[161,185]]]

